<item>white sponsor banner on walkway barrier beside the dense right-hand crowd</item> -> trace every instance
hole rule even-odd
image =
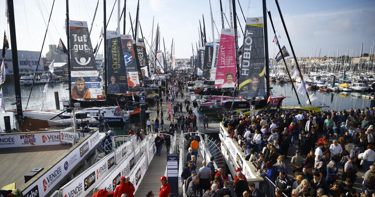
[[[229,156],[231,156],[233,161],[236,161],[236,164],[234,164],[235,165],[234,167],[235,168],[240,167],[242,169],[242,173],[245,174],[246,178],[248,179],[257,178],[257,176],[251,171],[251,168],[249,166],[250,162],[246,161],[245,158],[241,156],[243,153],[240,151],[239,146],[234,144],[232,138],[228,137],[229,134],[226,131],[226,128],[222,124],[220,124],[220,134],[222,134],[223,139],[225,141],[225,146],[229,150]]]

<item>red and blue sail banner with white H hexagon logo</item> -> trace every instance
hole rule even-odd
[[[125,62],[124,67],[126,68],[126,72],[123,74],[126,73],[126,81],[129,87],[139,86],[138,68],[133,42],[131,35],[121,35],[121,46]]]

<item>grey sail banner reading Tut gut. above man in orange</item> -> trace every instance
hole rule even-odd
[[[102,98],[98,69],[86,21],[69,21],[72,99]]]

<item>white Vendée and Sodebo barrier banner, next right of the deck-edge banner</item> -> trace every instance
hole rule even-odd
[[[115,153],[111,152],[68,184],[62,186],[62,196],[84,197],[115,168]]]

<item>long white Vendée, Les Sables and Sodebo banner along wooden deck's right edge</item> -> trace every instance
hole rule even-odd
[[[59,135],[60,136],[60,135]],[[100,142],[99,130],[93,133],[82,144],[77,146],[60,162],[46,171],[28,188],[22,191],[23,194],[35,194],[39,196],[46,196],[51,189],[60,182],[65,176],[71,174],[71,170],[87,155],[90,150]],[[76,185],[77,186],[77,185]],[[79,185],[78,185],[79,186]],[[84,185],[82,185],[84,187]],[[79,188],[78,188],[79,189]],[[78,191],[78,190],[77,190]]]

